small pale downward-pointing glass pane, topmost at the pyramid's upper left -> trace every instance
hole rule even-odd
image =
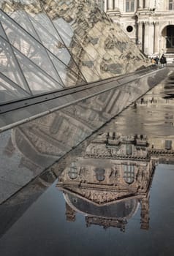
[[[11,12],[10,17],[15,20],[20,26],[23,27],[29,34],[31,34],[34,38],[39,40],[37,33],[34,31],[34,28],[29,20],[28,15],[23,10]]]

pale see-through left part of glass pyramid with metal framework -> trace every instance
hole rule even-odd
[[[47,15],[0,10],[0,104],[86,83],[72,62]]]

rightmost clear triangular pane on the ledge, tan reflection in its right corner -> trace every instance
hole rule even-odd
[[[49,55],[65,87],[77,86],[85,83],[84,80],[80,78],[80,76],[75,74],[72,69],[69,69],[69,67],[65,66],[61,61],[53,56],[53,54],[49,53]]]

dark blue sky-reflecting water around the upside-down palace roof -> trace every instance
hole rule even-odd
[[[86,227],[83,214],[67,222],[64,197],[50,187],[1,238],[1,255],[173,255],[173,179],[173,166],[156,168],[150,227],[140,230],[139,208],[125,233],[116,227]]]

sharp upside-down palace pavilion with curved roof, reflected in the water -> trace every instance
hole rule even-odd
[[[118,227],[122,231],[140,210],[140,227],[149,225],[149,188],[156,166],[145,135],[102,133],[66,167],[57,187],[64,192],[67,220],[75,213],[86,225]]]

